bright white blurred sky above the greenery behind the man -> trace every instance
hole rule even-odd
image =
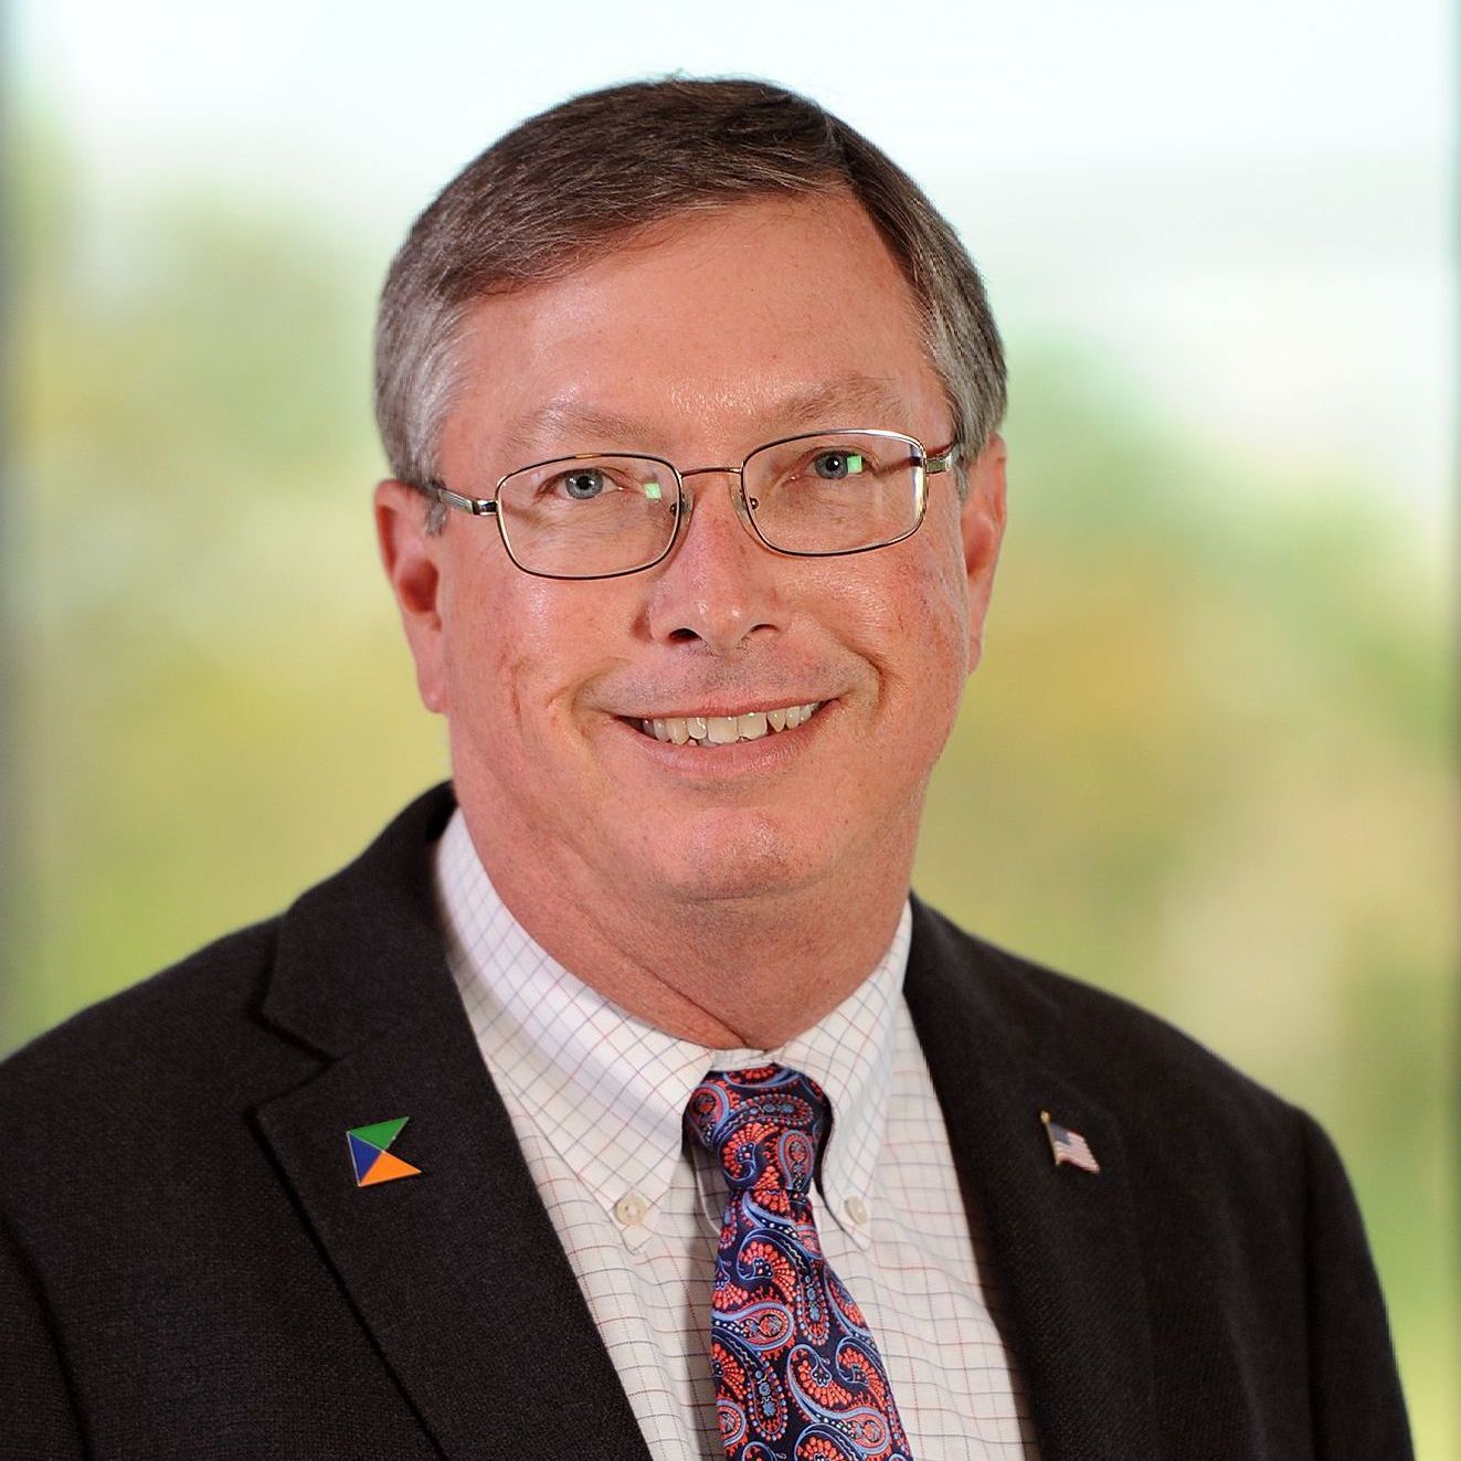
[[[1074,335],[1254,460],[1353,465],[1433,542],[1454,446],[1454,39],[1445,0],[10,13],[20,95],[75,149],[98,216],[139,180],[206,180],[304,200],[381,264],[468,158],[573,91],[674,69],[808,91],[929,188],[1011,340]]]

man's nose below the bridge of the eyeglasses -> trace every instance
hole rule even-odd
[[[716,478],[726,492],[716,491]],[[726,655],[785,622],[785,560],[744,520],[741,479],[732,468],[698,468],[684,479],[688,522],[655,571],[649,628],[656,640]]]

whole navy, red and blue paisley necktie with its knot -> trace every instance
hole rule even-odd
[[[712,1071],[685,1125],[729,1183],[710,1365],[730,1461],[912,1461],[862,1311],[823,1258],[811,1183],[830,1110],[799,1071]]]

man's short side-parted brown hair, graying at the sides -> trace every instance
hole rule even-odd
[[[958,235],[919,186],[817,102],[758,80],[668,77],[586,92],[514,127],[416,219],[381,291],[375,419],[396,478],[438,470],[470,307],[561,279],[679,213],[847,191],[918,304],[963,465],[999,425],[1005,367]],[[446,508],[432,503],[428,526]]]

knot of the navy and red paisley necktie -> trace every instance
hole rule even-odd
[[[830,1109],[823,1088],[785,1065],[712,1071],[691,1093],[685,1125],[720,1159],[732,1191],[812,1185]]]

